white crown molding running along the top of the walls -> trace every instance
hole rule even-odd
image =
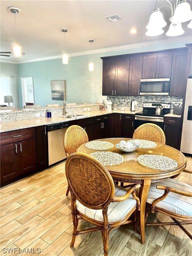
[[[179,38],[170,38],[170,39],[164,39],[159,41],[150,41],[150,42],[143,42],[138,44],[128,44],[128,45],[121,45],[121,46],[115,46],[115,47],[109,47],[109,48],[102,48],[97,50],[92,50],[92,54],[96,53],[103,53],[103,52],[112,52],[112,51],[120,51],[120,50],[128,50],[133,48],[140,48],[140,47],[146,47],[146,46],[155,46],[155,45],[162,45],[162,44],[170,44],[170,43],[178,43],[178,42],[186,42],[191,41],[191,36],[185,36],[185,37],[179,37]],[[82,55],[89,55],[89,51],[84,52],[75,52],[68,54],[69,57],[75,57],[75,56],[82,56]],[[56,55],[56,56],[50,56],[45,58],[37,58],[37,59],[30,59],[30,60],[18,60],[18,61],[9,61],[9,60],[1,60],[1,62],[7,62],[7,63],[14,63],[14,64],[21,64],[21,63],[28,63],[28,62],[35,62],[35,61],[44,61],[44,60],[53,60],[53,59],[60,59],[62,58],[62,55]]]

